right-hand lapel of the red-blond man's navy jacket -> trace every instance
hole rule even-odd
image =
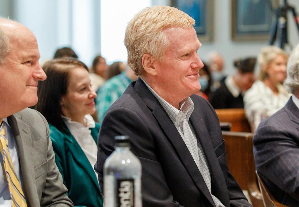
[[[225,206],[229,206],[229,195],[226,188],[226,182],[223,177],[223,172],[217,160],[209,132],[206,128],[206,125],[203,119],[196,119],[199,114],[192,113],[190,116],[190,121],[193,127],[197,140],[200,142],[202,146],[202,150],[206,156],[206,160],[208,162],[210,174],[211,174],[211,191],[214,196],[216,196],[219,200],[221,200],[222,204]],[[196,123],[196,124],[195,124]]]

